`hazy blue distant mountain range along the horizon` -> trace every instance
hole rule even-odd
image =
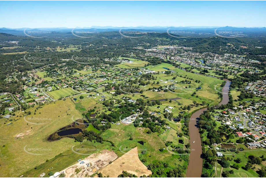
[[[136,27],[114,27],[114,26],[91,26],[91,27],[76,27],[75,29],[67,28],[67,27],[58,27],[58,28],[0,28],[0,33],[9,33],[12,35],[17,36],[26,36],[26,34],[32,33],[34,31],[35,36],[46,36],[47,34],[44,32],[49,32],[51,34],[57,33],[74,33],[76,32],[85,32],[85,33],[103,33],[103,32],[111,32],[111,31],[139,31],[139,32],[159,32],[159,33],[166,33],[169,31],[185,31],[186,33],[193,33],[193,34],[201,34],[201,33],[208,33],[210,35],[215,35],[215,29],[218,31],[229,31],[229,32],[237,32],[243,33],[247,35],[265,35],[266,28],[265,27],[232,27],[232,26],[136,26]],[[24,33],[25,31],[25,33]],[[31,32],[30,32],[31,31]],[[43,32],[43,33],[39,33]],[[49,36],[50,36],[49,35]],[[181,34],[182,35],[182,34]],[[184,34],[183,34],[184,35]]]

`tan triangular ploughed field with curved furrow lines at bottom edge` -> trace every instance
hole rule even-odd
[[[137,147],[131,149],[99,172],[101,172],[103,176],[109,175],[109,177],[118,177],[118,175],[122,174],[122,171],[135,174],[138,177],[152,174],[139,160]]]

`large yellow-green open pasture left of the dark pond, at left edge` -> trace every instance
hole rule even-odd
[[[37,106],[28,110],[31,111],[31,115],[27,115],[25,120],[24,112],[21,111],[16,111],[15,114],[22,117],[12,116],[13,124],[6,125],[3,124],[4,120],[0,120],[0,129],[5,130],[0,134],[0,173],[3,177],[21,176],[27,170],[44,163],[46,159],[52,159],[66,150],[71,150],[73,145],[79,145],[70,138],[47,141],[53,132],[71,124],[72,116],[81,117],[81,113],[75,109],[70,99],[46,104],[34,114],[36,108]]]

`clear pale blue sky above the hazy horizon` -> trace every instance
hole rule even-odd
[[[0,27],[266,26],[266,1],[0,1]]]

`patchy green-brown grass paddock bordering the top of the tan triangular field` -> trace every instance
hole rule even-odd
[[[167,162],[171,167],[175,167],[175,164],[187,165],[187,162],[179,159],[180,155],[172,155],[166,150],[165,144],[157,133],[147,134],[147,131],[147,128],[135,128],[133,124],[127,126],[112,124],[111,129],[103,132],[102,137],[114,142],[116,147],[113,150],[118,156],[122,156],[137,146],[140,160],[146,160],[145,165],[157,161]],[[129,140],[130,137],[133,137],[133,140]],[[138,141],[143,141],[144,145]],[[160,152],[160,148],[165,148],[165,150]]]

